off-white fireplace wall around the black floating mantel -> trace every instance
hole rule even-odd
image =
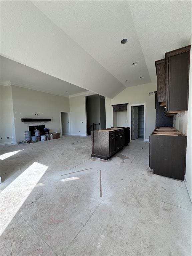
[[[12,85],[16,141],[24,140],[29,125],[60,132],[60,111],[69,111],[69,98]],[[36,116],[35,114],[38,114]],[[51,118],[51,122],[21,122],[21,118]]]

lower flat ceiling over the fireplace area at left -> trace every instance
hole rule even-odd
[[[87,90],[0,56],[0,82],[69,97]]]

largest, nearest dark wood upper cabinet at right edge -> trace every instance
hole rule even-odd
[[[165,53],[166,115],[188,110],[190,48]]]

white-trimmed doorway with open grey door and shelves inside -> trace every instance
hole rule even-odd
[[[130,139],[145,139],[145,103],[130,105]]]

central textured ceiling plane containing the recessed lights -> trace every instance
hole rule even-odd
[[[33,3],[124,86],[151,82],[127,1]]]

